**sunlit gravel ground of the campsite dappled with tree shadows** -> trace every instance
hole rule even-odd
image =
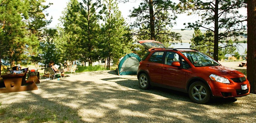
[[[0,122],[255,123],[256,95],[191,102],[189,95],[154,87],[142,90],[136,75],[114,71],[40,80],[39,89],[0,94]]]

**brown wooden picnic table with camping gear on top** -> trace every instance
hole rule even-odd
[[[40,83],[37,76],[30,76],[26,80],[28,69],[22,74],[3,74],[0,81],[0,93],[37,90],[36,83]],[[0,79],[0,80],[1,80]]]

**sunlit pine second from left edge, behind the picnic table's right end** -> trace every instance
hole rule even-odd
[[[23,18],[26,20],[25,23],[28,29],[26,52],[31,56],[28,57],[28,61],[32,61],[35,64],[41,62],[42,57],[39,54],[42,54],[43,50],[40,49],[40,42],[43,42],[48,35],[43,32],[47,32],[44,30],[47,30],[46,26],[52,21],[51,19],[46,20],[48,14],[45,15],[43,13],[52,4],[44,5],[43,2],[45,0],[26,0],[26,8],[23,8],[26,11]]]

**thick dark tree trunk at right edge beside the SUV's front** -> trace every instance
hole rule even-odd
[[[256,94],[256,0],[247,1],[247,79],[250,93]]]

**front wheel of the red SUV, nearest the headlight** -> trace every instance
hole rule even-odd
[[[211,94],[209,86],[200,81],[192,83],[189,87],[189,97],[195,103],[207,103]]]

